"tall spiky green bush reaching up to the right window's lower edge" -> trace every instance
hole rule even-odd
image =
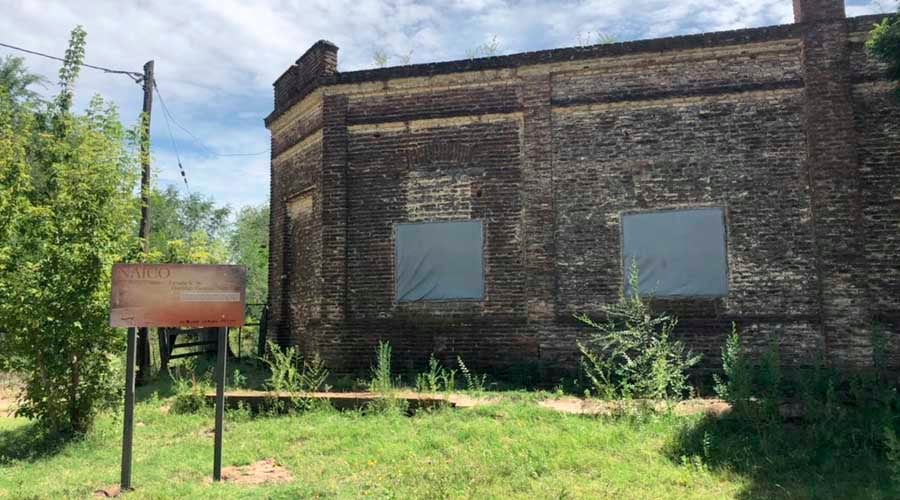
[[[579,342],[585,376],[596,396],[613,398],[681,398],[690,389],[687,371],[700,361],[684,343],[673,340],[674,316],[654,314],[648,299],[638,293],[638,269],[629,274],[632,295],[603,308],[595,322],[586,314],[578,321],[595,332]]]

